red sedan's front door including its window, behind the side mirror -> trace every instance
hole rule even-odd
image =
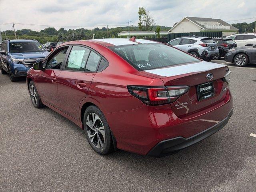
[[[60,68],[62,63],[64,63],[67,50],[68,47],[56,50],[56,54],[50,56],[46,61],[45,69],[38,72],[36,77],[36,86],[41,100],[55,108],[60,108],[57,77],[61,72]]]

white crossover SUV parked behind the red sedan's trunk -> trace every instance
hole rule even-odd
[[[212,60],[219,52],[216,42],[208,37],[181,37],[171,40],[167,44],[205,61]]]

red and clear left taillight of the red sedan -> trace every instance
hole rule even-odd
[[[148,105],[161,105],[176,101],[189,86],[127,86],[128,92]]]

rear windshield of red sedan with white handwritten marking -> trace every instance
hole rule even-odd
[[[139,71],[200,62],[194,56],[160,43],[112,46],[110,49]]]

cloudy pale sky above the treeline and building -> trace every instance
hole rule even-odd
[[[241,19],[256,17],[255,0],[0,0],[0,24],[91,26],[83,28],[92,29],[107,24],[112,28],[132,21],[131,24],[138,26],[139,7],[149,10],[161,26],[173,26],[184,16],[220,18],[230,24],[250,23],[255,19]],[[15,28],[41,30],[46,26],[16,24]],[[0,29],[12,30],[12,25],[0,25]]]

